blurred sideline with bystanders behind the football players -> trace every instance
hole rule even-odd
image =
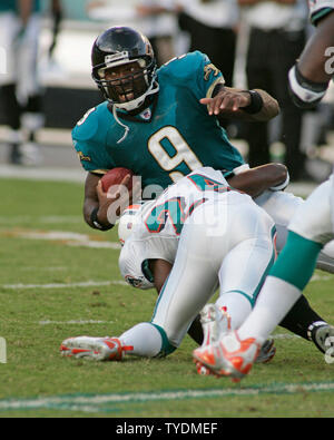
[[[6,27],[1,19],[8,20],[8,11],[1,9],[6,8],[0,6],[3,48]],[[287,92],[287,71],[313,32],[307,16],[304,0],[36,1],[28,20],[39,19],[35,28],[37,52],[32,56],[33,97],[38,97],[32,102],[38,105],[29,108],[30,98],[20,98],[16,88],[21,107],[29,105],[21,110],[19,123],[13,118],[16,110],[8,109],[12,94],[8,84],[26,76],[24,58],[19,56],[13,78],[2,85],[0,81],[0,176],[82,179],[70,131],[102,100],[90,77],[91,46],[102,30],[121,25],[135,27],[150,39],[159,65],[198,49],[220,68],[227,86],[271,92],[282,106],[279,117],[269,125],[252,127],[227,120],[225,128],[233,143],[252,166],[284,162],[294,182],[323,182],[334,163],[333,86],[312,111],[294,108]],[[4,62],[3,57],[0,62]],[[2,70],[0,66],[0,79]],[[31,123],[29,114],[39,117]]]

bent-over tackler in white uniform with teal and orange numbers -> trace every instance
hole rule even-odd
[[[119,257],[125,280],[150,289],[149,262],[175,262],[151,322],[119,338],[66,340],[63,355],[97,360],[167,355],[179,346],[218,284],[217,312],[227,310],[232,327],[252,311],[275,258],[275,225],[248,195],[230,188],[220,172],[205,167],[147,202],[138,215]]]

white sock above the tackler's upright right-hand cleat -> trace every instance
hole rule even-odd
[[[252,312],[252,304],[238,292],[223,293],[217,300],[216,304],[218,307],[226,307],[227,313],[230,316],[232,330],[238,329]]]

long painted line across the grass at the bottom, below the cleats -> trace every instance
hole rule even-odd
[[[108,407],[121,403],[154,402],[168,400],[209,399],[225,397],[253,397],[262,394],[297,394],[305,392],[334,391],[334,382],[321,383],[281,383],[274,385],[257,384],[249,388],[227,388],[209,390],[185,390],[161,392],[129,392],[111,394],[73,394],[56,395],[36,399],[9,399],[0,400],[0,411],[9,410],[70,410],[81,412],[106,412],[115,411],[117,408]]]

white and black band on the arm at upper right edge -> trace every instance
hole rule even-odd
[[[288,86],[292,99],[297,107],[312,108],[325,96],[328,82],[311,81],[295,65],[288,72]]]

